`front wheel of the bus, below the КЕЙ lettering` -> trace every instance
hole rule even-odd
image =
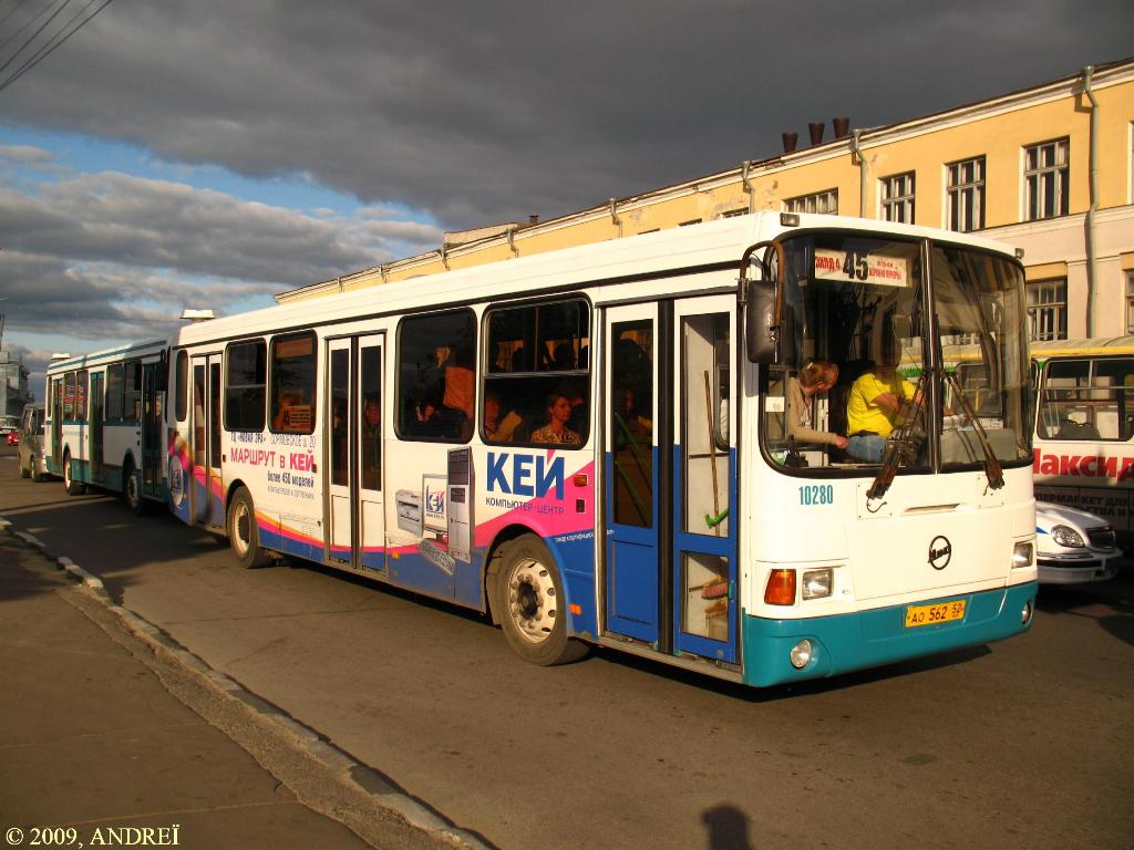
[[[508,646],[542,666],[583,657],[586,645],[567,636],[564,583],[543,541],[525,534],[502,554],[493,602]]]

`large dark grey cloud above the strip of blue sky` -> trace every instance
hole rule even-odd
[[[468,227],[1074,73],[1128,53],[1132,23],[1070,0],[116,5],[0,96],[9,120]]]

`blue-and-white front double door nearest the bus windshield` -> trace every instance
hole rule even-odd
[[[735,298],[606,311],[606,630],[737,660]]]

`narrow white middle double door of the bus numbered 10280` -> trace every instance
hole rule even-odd
[[[327,558],[384,573],[382,337],[330,340],[327,348]]]

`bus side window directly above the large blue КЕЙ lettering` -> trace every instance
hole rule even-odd
[[[590,435],[590,306],[582,299],[488,312],[481,437],[573,449]]]

